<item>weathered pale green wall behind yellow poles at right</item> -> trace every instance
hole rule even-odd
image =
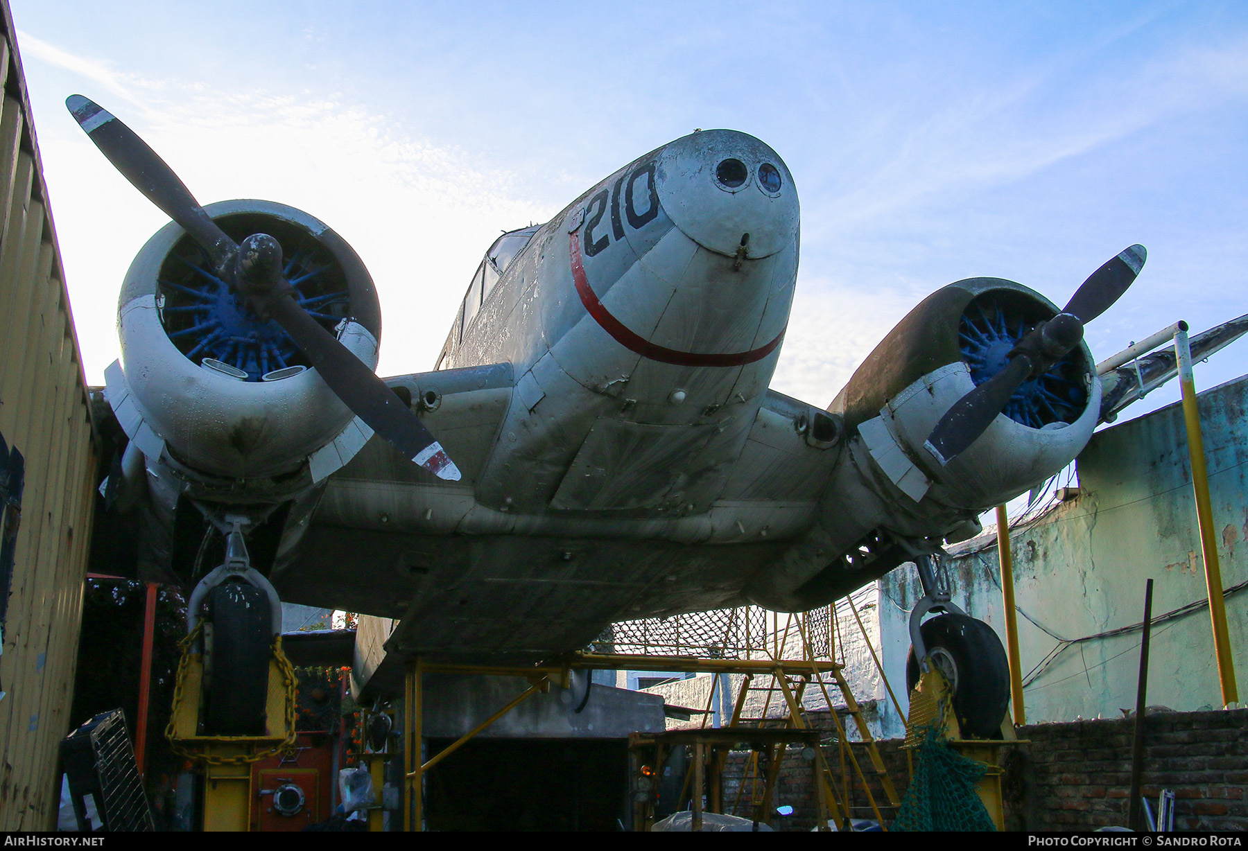
[[[1248,377],[1199,396],[1224,588],[1248,580]],[[1116,717],[1136,705],[1138,624],[1153,578],[1148,704],[1221,708],[1187,437],[1179,406],[1093,435],[1077,462],[1078,497],[1011,532],[1027,721]],[[953,600],[1005,640],[996,538],[952,548]],[[881,580],[881,638],[895,683],[905,680],[906,614],[922,594],[912,567]],[[891,603],[890,603],[891,601]],[[1231,643],[1248,703],[1248,589],[1227,598]],[[1046,661],[1047,660],[1047,661]],[[904,689],[901,689],[904,690]],[[899,690],[899,696],[900,691]]]

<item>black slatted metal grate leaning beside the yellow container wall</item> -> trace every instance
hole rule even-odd
[[[86,796],[106,831],[152,831],[152,814],[144,795],[135,751],[130,746],[126,715],[120,709],[100,712],[61,741],[70,799],[79,830],[91,830]]]

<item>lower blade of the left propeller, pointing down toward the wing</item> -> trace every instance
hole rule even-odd
[[[363,361],[307,314],[290,293],[271,301],[268,314],[291,336],[324,383],[396,449],[439,479],[458,482],[459,468],[424,423]]]

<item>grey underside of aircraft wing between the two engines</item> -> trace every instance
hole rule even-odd
[[[438,409],[422,414],[463,482],[434,480],[369,442],[329,480],[298,554],[275,576],[283,600],[393,618],[393,641],[439,656],[544,658],[584,646],[615,620],[744,603],[750,576],[811,523],[835,459],[805,437],[821,412],[768,392],[705,515],[513,517],[473,494],[490,447],[507,439],[497,429],[509,376],[484,369],[453,371],[464,378],[443,384]],[[387,383],[414,394],[446,374]],[[733,545],[690,547],[699,543]]]

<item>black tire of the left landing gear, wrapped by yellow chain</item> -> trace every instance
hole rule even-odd
[[[205,695],[203,732],[263,735],[273,640],[268,595],[253,585],[217,585],[208,594],[208,613],[212,683]]]

